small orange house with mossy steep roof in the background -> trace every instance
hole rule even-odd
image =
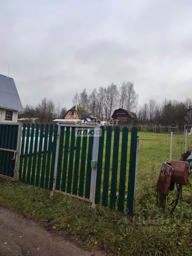
[[[92,118],[90,118],[90,113],[85,110],[83,106],[75,105],[70,108],[63,119],[55,119],[53,122],[63,122],[63,123],[75,123],[75,122],[87,121],[91,122]]]

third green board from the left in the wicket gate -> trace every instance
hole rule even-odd
[[[73,175],[73,158],[75,150],[75,127],[71,128],[71,143],[69,150],[69,169],[68,169],[68,179],[67,179],[67,193],[71,194],[72,187],[72,175]]]

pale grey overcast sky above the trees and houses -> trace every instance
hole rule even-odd
[[[139,104],[192,97],[191,0],[0,0],[0,74],[23,106],[132,81]]]

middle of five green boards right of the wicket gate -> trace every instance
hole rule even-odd
[[[111,173],[111,193],[110,193],[110,208],[115,209],[116,188],[117,188],[117,170],[118,170],[118,156],[119,156],[119,134],[120,128],[115,127],[114,142],[113,142],[113,160]]]

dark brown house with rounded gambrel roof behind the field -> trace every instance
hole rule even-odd
[[[137,124],[137,115],[126,109],[116,109],[111,117],[113,120],[118,120],[118,123]]]

